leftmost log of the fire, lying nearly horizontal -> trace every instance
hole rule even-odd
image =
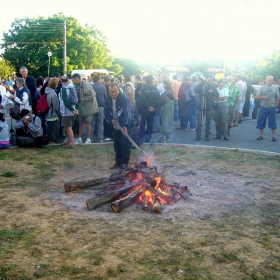
[[[85,181],[70,181],[64,183],[65,192],[72,192],[76,190],[94,188],[96,190],[102,189],[103,184],[108,182],[108,178],[96,178]]]

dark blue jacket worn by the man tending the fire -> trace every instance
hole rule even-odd
[[[116,108],[119,117],[119,124],[121,127],[133,126],[133,111],[130,106],[129,99],[123,94],[119,93],[116,100]],[[104,118],[108,123],[113,119],[113,102],[110,95],[107,96],[104,107]]]

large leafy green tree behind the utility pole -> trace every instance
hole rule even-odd
[[[52,52],[50,73],[63,71],[63,22],[67,25],[67,72],[74,69],[108,68],[113,57],[107,39],[94,26],[82,27],[73,17],[57,14],[44,18],[16,19],[4,33],[3,57],[19,69],[22,65],[31,75],[46,75],[47,53]]]

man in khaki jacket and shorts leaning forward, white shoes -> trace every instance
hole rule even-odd
[[[92,85],[87,81],[81,79],[80,74],[75,73],[72,76],[72,80],[75,85],[77,85],[77,91],[81,98],[81,103],[79,104],[79,144],[83,143],[82,135],[84,123],[87,128],[87,139],[85,144],[90,144],[91,136],[91,122],[93,114],[98,112],[98,104],[96,101],[96,93],[92,88]]]

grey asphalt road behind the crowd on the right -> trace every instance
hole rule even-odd
[[[232,127],[229,141],[223,139],[216,140],[215,123],[212,121],[210,141],[204,140],[204,130],[201,141],[195,141],[195,131],[177,130],[179,121],[174,123],[174,133],[172,142],[177,144],[191,144],[191,145],[204,145],[204,146],[217,146],[227,148],[242,148],[251,150],[261,150],[268,152],[280,153],[280,114],[277,114],[276,142],[272,142],[271,129],[264,130],[264,139],[257,140],[259,130],[256,129],[257,120],[246,120],[238,127]],[[203,128],[204,129],[204,128]],[[152,140],[157,142],[160,138],[160,133],[154,133]]]

